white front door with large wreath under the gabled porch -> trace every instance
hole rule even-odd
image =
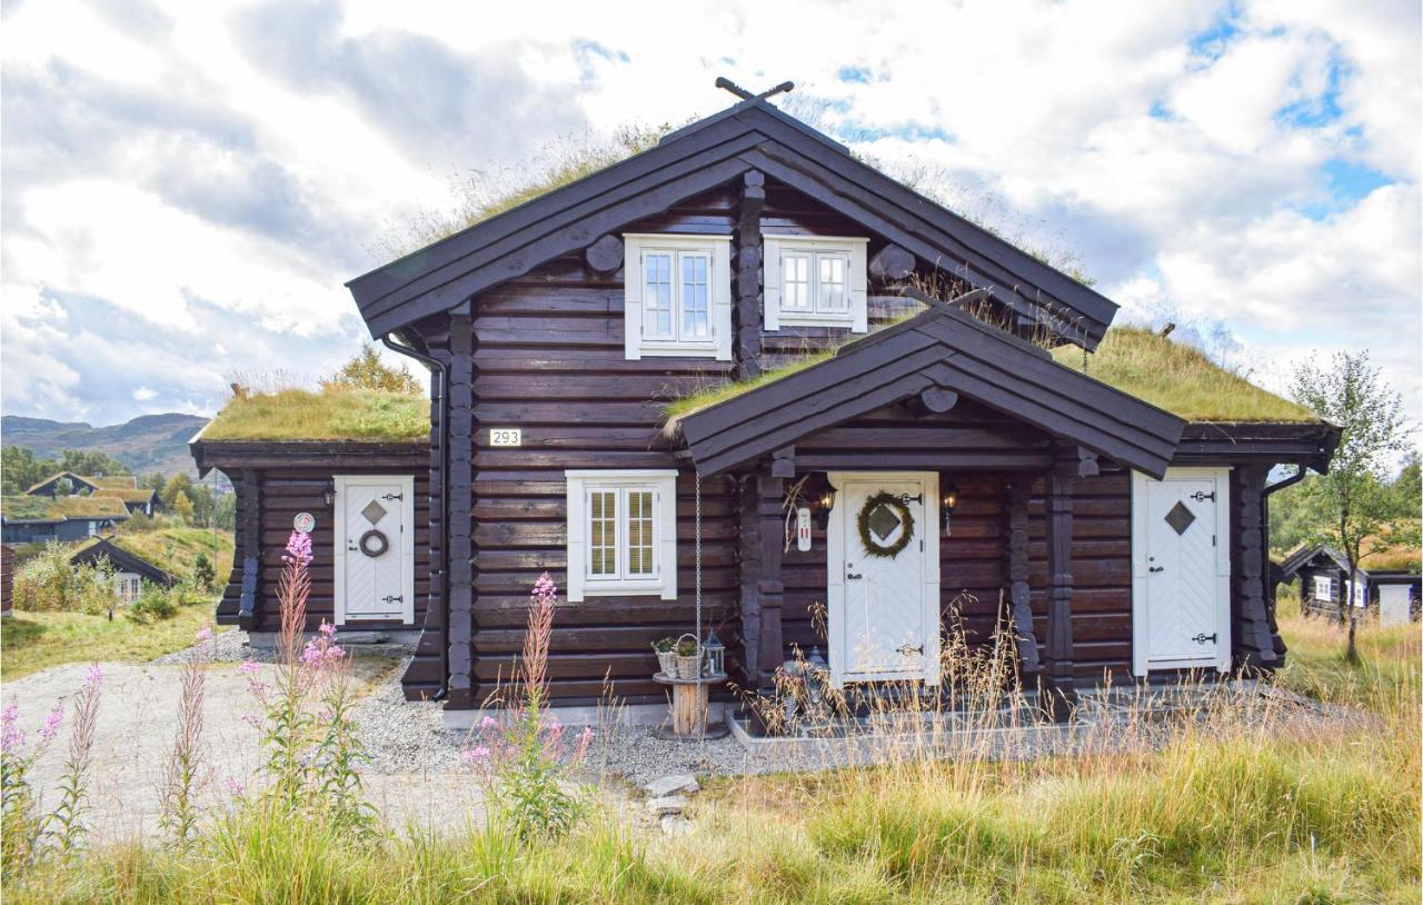
[[[939,477],[831,472],[830,481],[831,680],[938,684]]]

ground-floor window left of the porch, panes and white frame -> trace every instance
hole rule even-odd
[[[566,471],[568,599],[677,596],[676,470]]]

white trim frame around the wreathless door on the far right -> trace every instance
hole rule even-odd
[[[1167,468],[1163,481],[1215,482],[1215,659],[1150,659],[1147,606],[1147,485],[1154,478],[1131,472],[1131,674],[1146,676],[1153,669],[1190,669],[1214,665],[1218,672],[1231,667],[1231,468]]]

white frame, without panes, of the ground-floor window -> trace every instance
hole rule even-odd
[[[660,596],[677,599],[677,470],[578,470],[565,471],[568,499],[568,600],[576,603],[602,596]],[[588,497],[593,491],[616,489],[618,507],[618,563],[619,575],[592,575]],[[628,578],[622,575],[628,562],[626,499],[628,491],[650,489],[653,494],[653,575]]]

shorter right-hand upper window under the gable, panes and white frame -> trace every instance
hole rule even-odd
[[[766,248],[766,329],[868,329],[865,238],[761,236]]]

